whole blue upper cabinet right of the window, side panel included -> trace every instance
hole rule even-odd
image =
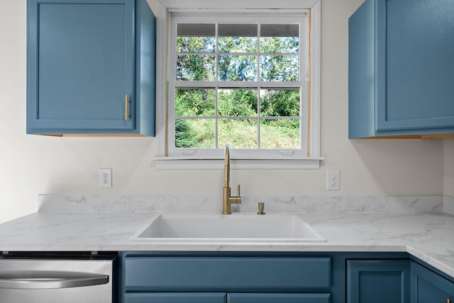
[[[454,133],[454,1],[366,0],[349,19],[349,138]]]

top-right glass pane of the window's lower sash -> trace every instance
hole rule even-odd
[[[262,117],[299,117],[299,89],[263,89],[260,91]]]

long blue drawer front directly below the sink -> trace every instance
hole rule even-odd
[[[331,258],[126,257],[126,290],[308,290],[331,286]]]

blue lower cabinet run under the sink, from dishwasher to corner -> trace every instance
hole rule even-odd
[[[119,303],[410,303],[406,253],[119,255]]]

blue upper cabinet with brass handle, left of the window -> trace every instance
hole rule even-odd
[[[155,135],[146,0],[28,0],[27,132]]]

